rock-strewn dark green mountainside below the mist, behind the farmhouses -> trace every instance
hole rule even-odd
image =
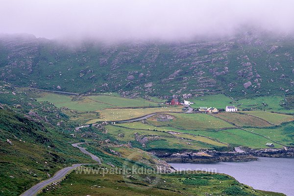
[[[32,35],[1,35],[0,79],[42,89],[133,97],[293,94],[292,37],[248,31],[228,40],[112,45],[91,40],[72,46]],[[246,82],[251,85],[245,88]]]

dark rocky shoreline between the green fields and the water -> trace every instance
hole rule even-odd
[[[241,162],[254,161],[257,157],[293,158],[294,147],[251,149],[236,147],[234,151],[221,152],[216,150],[203,150],[200,152],[181,153],[152,153],[170,163],[216,163],[216,162]]]

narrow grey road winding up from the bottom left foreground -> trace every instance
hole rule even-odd
[[[79,147],[78,145],[80,144],[84,144],[84,143],[76,143],[72,145],[73,147],[78,147],[83,153],[90,155],[93,160],[98,162],[98,164],[101,164],[101,159],[99,157],[88,152],[84,147]],[[63,168],[62,170],[59,170],[58,172],[56,172],[53,177],[36,184],[35,186],[25,191],[25,193],[23,193],[21,196],[35,196],[37,193],[39,193],[42,189],[47,187],[49,184],[64,178],[66,174],[68,174],[73,169],[78,168],[82,165],[89,165],[89,164],[88,163],[73,164],[71,167]]]

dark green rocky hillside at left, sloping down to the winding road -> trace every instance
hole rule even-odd
[[[52,105],[40,104],[14,90],[9,84],[0,83],[1,196],[18,196],[65,166],[92,162],[71,147],[69,142],[78,140],[69,135],[69,126],[56,125],[67,121],[65,115]]]

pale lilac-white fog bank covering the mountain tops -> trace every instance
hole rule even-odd
[[[243,26],[294,32],[293,0],[0,0],[0,33],[45,38],[189,39]]]

